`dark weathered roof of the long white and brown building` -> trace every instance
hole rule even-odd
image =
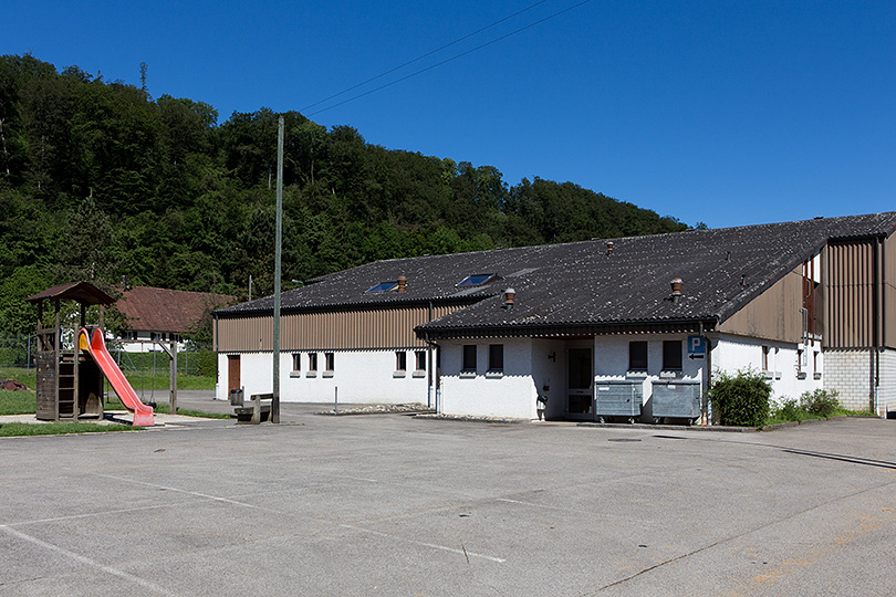
[[[894,229],[896,212],[887,212],[378,261],[285,292],[281,307],[475,302],[420,327],[429,331],[725,321],[830,239],[889,235]],[[478,273],[501,277],[485,286],[455,286]],[[407,292],[364,292],[399,275],[407,276]],[[684,280],[677,302],[669,300],[673,277]],[[511,311],[501,308],[508,286],[517,291]],[[261,314],[272,306],[273,298],[265,297],[217,313]]]

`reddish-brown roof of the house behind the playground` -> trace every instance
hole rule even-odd
[[[127,316],[134,329],[184,334],[207,311],[236,301],[228,294],[134,286],[124,291],[115,307]]]

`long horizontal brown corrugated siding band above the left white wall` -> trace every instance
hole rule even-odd
[[[444,317],[462,305],[434,305],[433,318]],[[280,349],[352,350],[425,346],[414,328],[429,321],[429,307],[405,306],[375,310],[288,313],[280,318]],[[273,318],[218,320],[218,350],[222,353],[273,349]]]

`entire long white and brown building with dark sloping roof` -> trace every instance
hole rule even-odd
[[[713,421],[720,371],[896,412],[896,213],[389,260],[283,295],[281,399]],[[271,391],[270,297],[216,312],[218,398]],[[825,370],[827,368],[827,370]]]

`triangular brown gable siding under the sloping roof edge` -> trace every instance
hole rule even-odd
[[[803,266],[800,265],[775,282],[722,322],[718,329],[729,334],[782,342],[800,342],[803,320]]]

